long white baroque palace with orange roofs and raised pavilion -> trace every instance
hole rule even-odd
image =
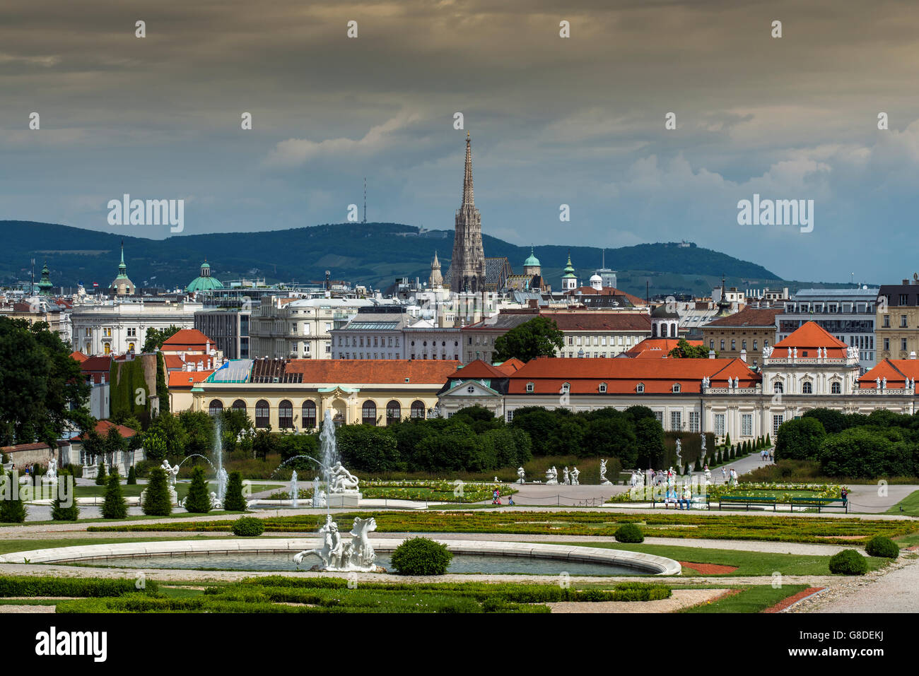
[[[814,408],[913,413],[919,360],[884,360],[859,376],[857,348],[808,322],[762,353],[731,359],[539,357],[516,370],[482,361],[456,369],[438,396],[450,416],[481,405],[512,421],[525,406],[590,411],[647,406],[664,430],[730,434],[743,441],[771,434]]]

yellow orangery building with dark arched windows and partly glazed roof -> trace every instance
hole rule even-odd
[[[433,359],[233,359],[192,386],[191,408],[239,409],[256,428],[272,430],[316,429],[327,409],[336,423],[384,425],[434,415],[437,390],[458,366]]]

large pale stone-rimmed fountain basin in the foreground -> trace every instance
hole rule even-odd
[[[389,553],[403,543],[404,538],[373,538],[374,549]],[[556,559],[606,566],[607,575],[624,574],[621,569],[634,570],[633,575],[679,575],[680,565],[675,560],[641,552],[630,552],[603,547],[542,545],[524,542],[495,542],[478,540],[448,540],[434,538],[448,546],[456,555]],[[182,540],[174,542],[130,542],[112,545],[64,546],[35,549],[0,556],[0,563],[92,563],[118,567],[119,559],[147,557],[187,557],[217,554],[284,554],[290,556],[303,549],[321,546],[317,537],[267,538],[258,540]],[[146,562],[145,562],[146,563]],[[304,561],[305,563],[305,561]],[[219,565],[208,566],[221,568]],[[155,560],[143,568],[156,568]],[[175,567],[170,567],[175,568]],[[188,567],[193,568],[193,566]],[[304,566],[304,568],[309,568]],[[516,567],[526,570],[527,567]],[[569,571],[570,572],[570,571]],[[549,573],[556,574],[556,573]],[[593,573],[604,574],[604,573]]]

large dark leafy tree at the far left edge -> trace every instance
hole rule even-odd
[[[0,445],[53,445],[70,427],[88,429],[89,386],[57,332],[0,317]]]

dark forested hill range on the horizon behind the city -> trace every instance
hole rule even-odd
[[[136,229],[135,229],[136,231]],[[422,231],[399,223],[337,223],[282,231],[176,235],[149,240],[119,233],[89,231],[65,225],[0,220],[5,252],[0,260],[0,283],[28,279],[29,259],[36,268],[47,261],[55,286],[100,288],[117,274],[119,244],[124,240],[128,275],[138,286],[185,287],[198,276],[207,258],[212,273],[221,280],[265,277],[276,281],[322,280],[325,270],[333,279],[346,279],[372,287],[387,287],[397,276],[427,278],[430,260],[437,255],[446,273],[453,248],[453,231]],[[515,272],[523,272],[528,246],[516,246],[483,236],[485,255],[506,256]],[[572,262],[584,284],[600,267],[596,247],[571,247]],[[536,247],[543,276],[553,287],[569,248]],[[721,275],[737,287],[775,286],[781,280],[761,265],[694,244],[641,244],[607,249],[607,267],[618,273],[618,287],[643,297],[646,281],[651,293],[708,293],[720,284]],[[789,286],[788,282],[784,283]]]

